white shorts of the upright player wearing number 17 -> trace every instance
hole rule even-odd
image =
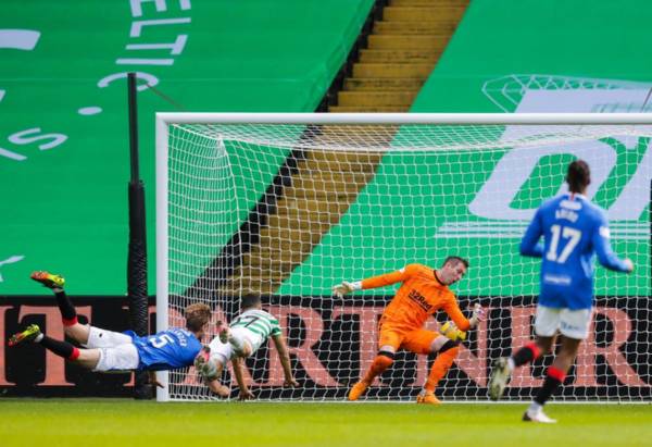
[[[589,336],[593,309],[570,310],[537,306],[535,332],[541,337],[552,337],[559,330],[563,336],[584,340]]]

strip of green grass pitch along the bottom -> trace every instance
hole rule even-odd
[[[649,446],[650,405],[554,405],[555,425],[521,422],[525,405],[156,403],[2,399],[13,446]]]

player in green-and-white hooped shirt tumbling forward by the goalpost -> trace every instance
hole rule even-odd
[[[253,295],[242,297],[241,312],[230,324],[217,323],[218,336],[204,347],[195,360],[197,371],[204,377],[209,388],[220,395],[228,395],[228,387],[220,383],[222,371],[230,360],[236,382],[240,388],[240,399],[252,399],[254,396],[243,378],[244,359],[253,355],[262,345],[272,338],[283,365],[286,386],[298,386],[292,376],[290,357],[280,331],[278,320],[262,310],[261,298]]]

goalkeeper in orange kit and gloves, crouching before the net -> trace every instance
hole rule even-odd
[[[435,396],[435,388],[453,364],[460,350],[460,340],[466,337],[465,332],[477,326],[484,316],[482,308],[475,305],[473,315],[467,320],[457,306],[455,295],[448,287],[460,281],[467,268],[468,261],[451,256],[437,270],[409,264],[392,273],[353,283],[342,282],[333,287],[333,293],[342,297],[353,290],[403,283],[380,318],[378,355],[364,377],[349,392],[349,400],[358,400],[374,378],[393,363],[397,350],[406,349],[426,356],[437,353],[416,402],[441,403]],[[448,313],[452,323],[444,324],[441,334],[426,331],[423,326],[428,315],[439,309]]]

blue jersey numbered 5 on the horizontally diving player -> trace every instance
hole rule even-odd
[[[138,369],[164,371],[189,367],[201,349],[201,343],[186,330],[171,327],[154,335],[139,337],[125,332],[134,342],[140,358]]]

